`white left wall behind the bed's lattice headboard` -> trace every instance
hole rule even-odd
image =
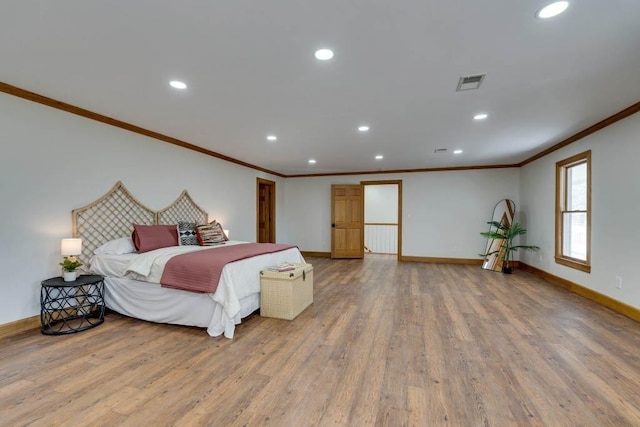
[[[156,210],[187,189],[210,219],[248,241],[255,241],[256,177],[282,186],[271,175],[5,94],[0,147],[0,324],[39,313],[40,282],[60,275],[71,210],[118,180]]]

